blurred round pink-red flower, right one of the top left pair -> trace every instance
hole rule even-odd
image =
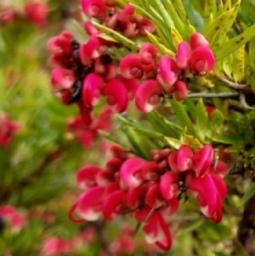
[[[25,15],[27,19],[37,26],[42,26],[46,22],[49,7],[41,1],[31,1],[25,4]]]

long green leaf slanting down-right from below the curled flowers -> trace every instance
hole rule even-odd
[[[183,104],[178,102],[177,100],[171,100],[171,106],[173,111],[175,112],[177,118],[179,119],[181,125],[183,127],[187,127],[187,132],[199,139],[201,139],[200,135],[198,134],[194,124],[191,122],[190,117],[188,116],[186,110],[183,107]]]

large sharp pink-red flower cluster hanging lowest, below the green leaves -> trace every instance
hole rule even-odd
[[[183,194],[194,194],[202,213],[215,223],[221,221],[227,167],[222,161],[214,163],[210,145],[196,152],[187,145],[176,152],[153,150],[151,161],[117,146],[110,151],[112,157],[103,169],[88,165],[78,170],[77,183],[84,192],[70,209],[72,221],[95,221],[101,215],[113,220],[130,214],[144,223],[146,241],[163,250],[171,248],[169,216],[178,210]],[[75,212],[80,219],[74,218]]]

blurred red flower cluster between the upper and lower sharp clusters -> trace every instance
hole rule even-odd
[[[111,130],[111,116],[112,110],[107,107],[102,110],[98,119],[94,119],[93,123],[89,126],[84,124],[81,116],[69,118],[67,124],[68,130],[85,148],[90,149],[94,139],[98,137],[98,130]]]

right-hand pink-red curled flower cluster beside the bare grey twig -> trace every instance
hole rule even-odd
[[[179,43],[175,59],[164,55],[157,61],[157,53],[153,44],[144,43],[139,53],[129,54],[120,61],[124,77],[146,80],[135,95],[136,105],[142,112],[151,111],[159,103],[160,96],[173,94],[177,100],[185,99],[187,75],[202,76],[215,66],[209,42],[200,33],[193,33],[189,43]]]

